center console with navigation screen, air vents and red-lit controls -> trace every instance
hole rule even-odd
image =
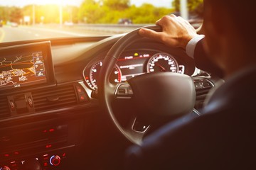
[[[49,41],[0,54],[0,170],[67,169],[84,133],[72,113],[85,90],[56,83]]]

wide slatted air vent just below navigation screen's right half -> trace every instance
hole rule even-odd
[[[35,111],[49,111],[78,103],[73,85],[55,86],[32,92]]]

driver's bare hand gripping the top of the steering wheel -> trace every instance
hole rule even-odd
[[[156,21],[156,25],[161,26],[163,31],[156,32],[142,28],[139,30],[139,35],[163,42],[169,47],[182,47],[183,49],[186,49],[188,42],[197,35],[196,29],[188,21],[173,14]]]

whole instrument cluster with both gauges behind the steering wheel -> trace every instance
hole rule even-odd
[[[104,55],[96,57],[95,60],[87,64],[83,71],[83,77],[87,86],[92,90],[97,89],[97,79],[100,75],[100,68],[104,60]],[[129,50],[122,53],[117,60],[110,82],[117,84],[125,82],[132,77],[150,72],[175,72],[188,74],[186,63],[178,57],[157,50]]]

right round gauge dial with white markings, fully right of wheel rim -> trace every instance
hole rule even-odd
[[[153,55],[146,65],[147,72],[178,72],[178,63],[167,53]]]

